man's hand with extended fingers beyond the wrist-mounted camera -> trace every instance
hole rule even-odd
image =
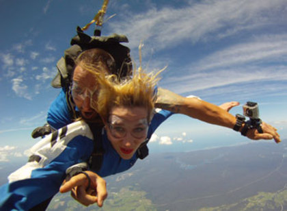
[[[263,134],[260,134],[257,129],[249,129],[247,131],[246,136],[253,140],[259,140],[259,139],[265,139],[265,140],[271,140],[274,139],[275,142],[279,143],[281,142],[280,136],[277,133],[277,129],[267,123],[262,122],[262,130]]]

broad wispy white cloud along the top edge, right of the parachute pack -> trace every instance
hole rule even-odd
[[[150,7],[140,14],[129,11],[123,19],[109,25],[113,32],[127,34],[132,48],[137,47],[138,40],[143,40],[159,50],[184,41],[215,40],[284,23],[287,18],[284,8],[285,0],[192,1],[177,8]]]

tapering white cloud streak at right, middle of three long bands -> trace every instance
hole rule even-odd
[[[260,36],[208,55],[195,66],[197,71],[222,69],[251,62],[286,61],[287,34]]]

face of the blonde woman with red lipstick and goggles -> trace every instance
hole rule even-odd
[[[121,158],[133,157],[148,134],[148,110],[146,108],[116,107],[105,123],[111,145]]]

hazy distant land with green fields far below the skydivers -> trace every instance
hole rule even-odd
[[[107,177],[103,208],[66,194],[48,210],[287,210],[286,158],[286,140],[154,154]]]

